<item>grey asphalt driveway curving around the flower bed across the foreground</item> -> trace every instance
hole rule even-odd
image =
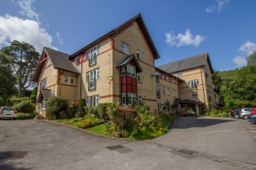
[[[242,121],[203,117],[176,120],[167,135],[142,141],[45,120],[0,120],[0,155],[0,169],[19,170],[256,168],[256,142]]]

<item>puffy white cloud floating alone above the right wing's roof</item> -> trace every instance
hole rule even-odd
[[[166,38],[167,44],[171,46],[176,45],[177,47],[183,45],[193,45],[197,47],[206,39],[206,37],[202,35],[192,35],[189,29],[186,29],[185,34],[178,33],[178,35],[175,35],[173,32],[168,32],[166,33]]]

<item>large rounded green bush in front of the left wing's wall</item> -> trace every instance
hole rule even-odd
[[[69,100],[64,97],[51,97],[46,102],[46,118],[60,119],[61,113],[68,110]]]

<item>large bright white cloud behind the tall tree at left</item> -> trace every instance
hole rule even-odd
[[[44,46],[57,50],[51,45],[51,35],[36,21],[6,15],[0,16],[0,23],[0,47],[9,45],[8,42],[12,40],[18,40],[33,45],[39,53]]]

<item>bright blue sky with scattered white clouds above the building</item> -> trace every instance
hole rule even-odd
[[[0,48],[25,41],[72,54],[142,14],[161,59],[156,65],[208,52],[213,68],[246,64],[256,50],[255,0],[1,0]]]

